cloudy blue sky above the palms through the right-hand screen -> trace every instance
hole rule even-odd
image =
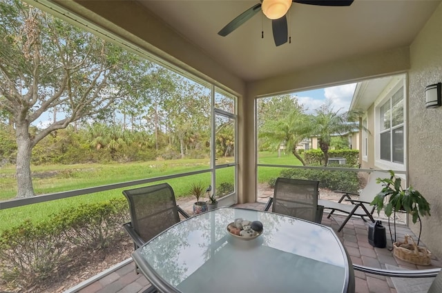
[[[314,114],[314,110],[329,101],[335,111],[342,108],[341,112],[346,112],[352,102],[354,88],[356,88],[356,83],[349,83],[318,90],[294,92],[293,94],[298,97],[299,103],[304,105],[307,113]]]

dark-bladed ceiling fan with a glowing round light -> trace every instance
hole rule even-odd
[[[354,0],[260,0],[262,3],[258,3],[252,6],[248,10],[242,12],[233,21],[227,23],[218,34],[222,37],[226,37],[227,34],[233,32],[239,28],[242,23],[248,21],[257,14],[260,10],[265,16],[271,19],[271,27],[273,30],[273,39],[275,45],[280,46],[283,43],[287,43],[287,18],[285,14],[289,11],[291,3],[302,3],[318,6],[350,6]]]

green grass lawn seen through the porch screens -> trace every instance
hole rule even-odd
[[[228,160],[229,158],[220,159]],[[300,165],[293,156],[281,156],[268,152],[260,154],[260,163]],[[179,174],[209,168],[208,159],[183,159],[168,161],[146,161],[137,163],[109,163],[109,164],[79,164],[79,165],[44,165],[32,167],[33,183],[37,194],[50,194],[81,188],[90,188],[111,183],[133,181],[137,179],[153,178],[169,174]],[[260,167],[258,182],[265,183],[272,177],[277,177],[281,168]],[[233,183],[234,168],[223,168],[216,171],[217,186],[222,182]],[[15,166],[6,166],[0,170],[0,200],[12,199],[17,192],[15,181]],[[169,183],[177,198],[189,196],[191,183],[202,183],[209,186],[210,172],[177,179],[169,179]],[[158,183],[158,182],[157,182]],[[157,184],[152,183],[152,184]],[[135,188],[135,187],[131,187]],[[19,208],[0,210],[0,232],[8,227],[19,225],[25,219],[42,221],[48,215],[81,203],[96,203],[115,197],[123,196],[122,190],[108,190],[68,199],[59,199],[45,203],[36,203]]]

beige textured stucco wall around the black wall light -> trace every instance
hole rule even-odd
[[[442,256],[442,108],[425,108],[425,86],[442,81],[442,5],[410,47],[408,92],[409,182],[430,202],[422,223],[423,242]],[[411,221],[410,221],[411,223]],[[412,225],[419,233],[419,225]]]

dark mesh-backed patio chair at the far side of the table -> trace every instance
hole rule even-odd
[[[265,210],[271,206],[272,212],[320,223],[324,207],[318,205],[318,185],[319,181],[278,178]]]

